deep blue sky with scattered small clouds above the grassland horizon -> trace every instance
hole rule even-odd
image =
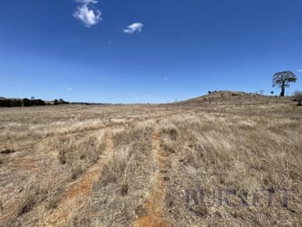
[[[302,88],[301,0],[14,0],[0,7],[0,96],[163,103],[275,72]]]

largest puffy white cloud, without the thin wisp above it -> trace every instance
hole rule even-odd
[[[77,7],[74,17],[82,21],[88,28],[102,21],[101,12],[89,9],[88,5]]]

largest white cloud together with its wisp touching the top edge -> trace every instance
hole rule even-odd
[[[74,17],[80,20],[86,27],[91,27],[97,23],[102,21],[101,11],[97,9],[93,9],[91,5],[97,4],[96,0],[76,0],[77,3],[81,3],[83,5],[78,6],[76,8]]]

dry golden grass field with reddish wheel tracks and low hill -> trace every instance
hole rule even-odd
[[[1,226],[302,224],[302,108],[289,98],[217,92],[0,119]]]

